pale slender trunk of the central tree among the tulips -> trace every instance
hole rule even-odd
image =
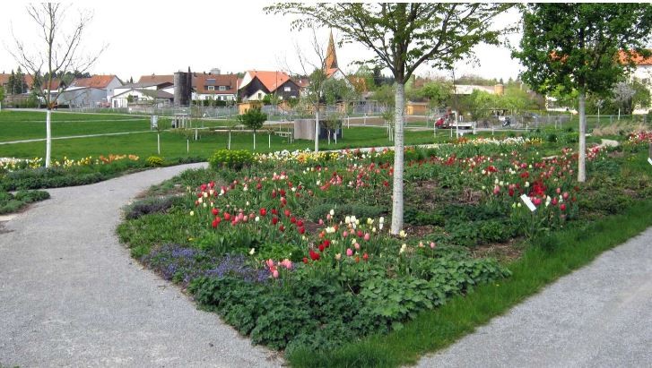
[[[397,235],[403,229],[403,110],[405,84],[396,83],[396,116],[394,119],[394,190],[392,191],[391,234]]]

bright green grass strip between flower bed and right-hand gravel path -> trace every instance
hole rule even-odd
[[[297,367],[395,367],[415,364],[422,355],[448,347],[457,339],[507,312],[552,281],[593,261],[652,225],[652,201],[642,201],[620,215],[551,235],[552,249],[531,246],[509,264],[511,278],[457,296],[442,307],[422,313],[404,329],[371,336],[329,351],[295,350],[286,358]]]

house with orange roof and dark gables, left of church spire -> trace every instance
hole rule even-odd
[[[260,101],[272,94],[282,100],[299,98],[299,91],[299,84],[285,72],[248,71],[238,87],[243,102]]]

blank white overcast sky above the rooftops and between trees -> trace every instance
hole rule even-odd
[[[91,73],[112,73],[128,80],[143,74],[170,74],[178,70],[208,72],[219,68],[222,73],[246,70],[286,70],[301,73],[296,45],[310,57],[309,30],[290,29],[291,18],[268,15],[263,7],[268,2],[143,2],[143,1],[80,1],[73,9],[84,8],[94,18],[83,36],[85,50],[108,48],[91,68]],[[72,20],[72,18],[71,18]],[[516,12],[497,19],[504,26],[517,23]],[[9,73],[17,66],[7,47],[13,47],[13,33],[29,46],[39,44],[38,28],[27,16],[24,3],[3,2],[0,13],[0,72]],[[328,30],[318,30],[318,39],[326,47]],[[335,39],[338,35],[335,32]],[[520,35],[510,38],[517,45]],[[42,48],[42,47],[41,47]],[[479,46],[475,49],[478,64],[456,64],[456,76],[475,74],[485,78],[516,78],[520,64],[512,60],[502,47]],[[352,73],[351,63],[369,56],[364,47],[350,44],[337,49],[340,68]],[[387,71],[388,73],[388,71]],[[428,73],[450,76],[423,66],[419,75]]]

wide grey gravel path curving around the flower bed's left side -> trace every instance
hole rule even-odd
[[[119,244],[120,209],[188,167],[52,189],[0,231],[0,365],[278,366]],[[7,232],[8,231],[8,232]]]

